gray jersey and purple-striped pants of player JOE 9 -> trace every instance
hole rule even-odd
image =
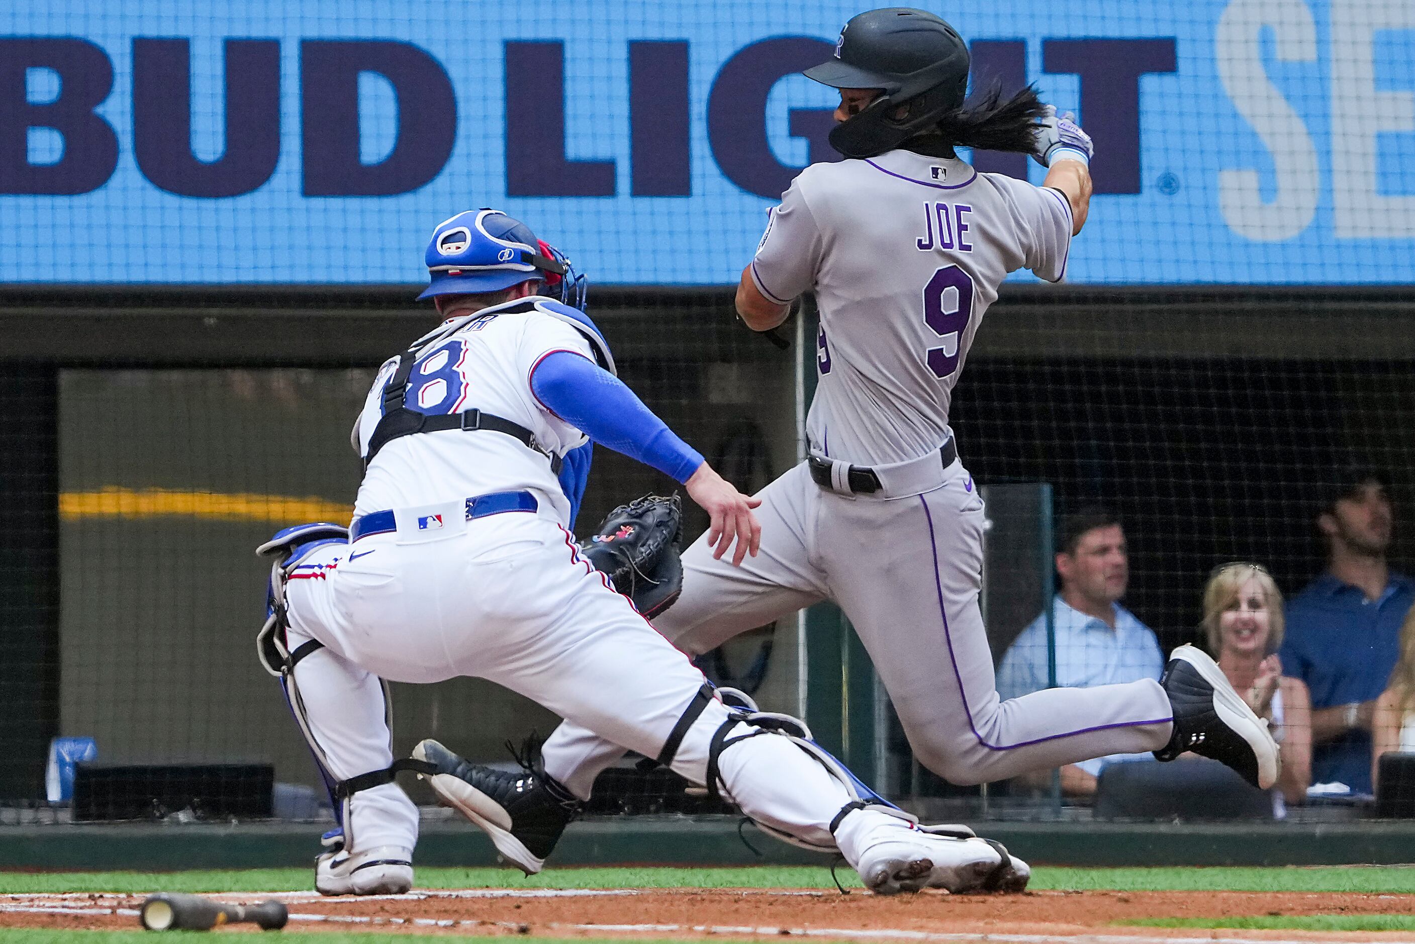
[[[816,293],[812,446],[877,467],[938,449],[999,283],[1020,267],[1058,282],[1070,245],[1061,192],[959,160],[896,150],[804,170],[773,211],[751,275],[781,303]],[[1170,709],[1153,679],[998,698],[978,606],[983,502],[962,461],[934,474],[917,488],[843,495],[818,485],[807,464],[791,468],[757,495],[761,553],[733,566],[699,538],[683,552],[682,596],[654,627],[686,652],[706,652],[833,600],[914,756],[958,784],[1163,747]],[[573,723],[545,743],[546,771],[580,797],[620,756]]]

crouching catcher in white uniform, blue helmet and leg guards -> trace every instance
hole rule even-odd
[[[1026,863],[1000,845],[962,827],[920,827],[801,722],[724,702],[620,592],[635,587],[611,585],[611,575],[633,585],[628,572],[655,573],[668,593],[665,580],[647,583],[640,601],[649,613],[672,603],[676,501],[617,511],[582,553],[569,526],[591,440],[682,483],[712,517],[700,553],[724,568],[757,552],[760,501],[616,378],[565,256],[481,209],[440,224],[426,258],[422,297],[443,323],[374,381],[354,426],[365,474],[351,526],[303,525],[262,546],[276,556],[262,661],[280,677],[340,814],[316,887],[412,886],[417,810],[393,783],[405,770],[507,858],[541,868],[536,849],[555,844],[576,800],[536,776],[533,757],[525,776],[474,771],[432,740],[393,759],[383,679],[457,675],[526,695],[613,750],[658,759],[774,835],[839,851],[876,892],[1023,887]],[[645,559],[620,566],[634,553]]]

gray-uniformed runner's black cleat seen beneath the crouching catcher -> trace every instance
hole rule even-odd
[[[437,767],[427,780],[437,800],[481,827],[497,852],[526,875],[545,866],[560,834],[580,812],[580,801],[545,773],[541,743],[528,737],[521,753],[507,742],[521,770],[473,764],[436,740],[413,747],[413,757]]]

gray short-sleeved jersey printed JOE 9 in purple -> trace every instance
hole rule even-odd
[[[1023,267],[1060,282],[1070,245],[1065,195],[957,159],[893,150],[801,171],[751,275],[778,303],[815,290],[812,446],[857,464],[937,449],[998,286]]]

